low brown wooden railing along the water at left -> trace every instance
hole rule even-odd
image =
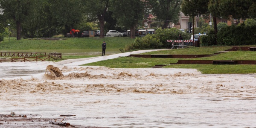
[[[10,52],[9,52],[10,53]],[[36,53],[36,52],[34,52]],[[45,52],[37,52],[37,53],[45,53]],[[12,54],[14,55],[14,54]],[[26,61],[50,61],[50,60],[57,60],[58,58],[62,58],[61,57],[61,53],[49,53],[49,55],[36,55],[35,57],[29,57],[29,54],[26,54],[27,57],[24,58],[11,58],[11,59],[0,59],[0,62],[26,62]],[[30,55],[32,56],[32,55]]]

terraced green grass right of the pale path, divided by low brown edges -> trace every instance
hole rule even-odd
[[[143,54],[213,54],[216,51],[223,51],[230,47],[191,47],[187,49],[169,49],[159,52],[148,52]],[[98,65],[111,68],[142,68],[152,67],[157,64],[177,63],[178,60],[256,60],[256,52],[252,51],[233,51],[221,53],[204,58],[131,58],[122,57],[106,61],[99,61],[84,65]],[[212,65],[212,64],[172,64],[164,68],[192,68],[206,74],[244,74],[256,73],[256,65]]]

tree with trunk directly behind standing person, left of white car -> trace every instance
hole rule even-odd
[[[109,7],[109,0],[86,0],[84,5],[89,21],[99,21],[100,38],[104,38],[105,15]]]

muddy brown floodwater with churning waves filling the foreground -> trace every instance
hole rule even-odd
[[[61,114],[76,115],[64,122],[78,128],[256,126],[256,74],[21,63],[0,63],[0,114],[15,112],[34,122],[18,122],[18,118],[5,122],[1,116],[0,128],[48,128],[52,127],[50,119],[60,121]],[[49,64],[58,67],[64,77],[47,78],[44,73]]]

